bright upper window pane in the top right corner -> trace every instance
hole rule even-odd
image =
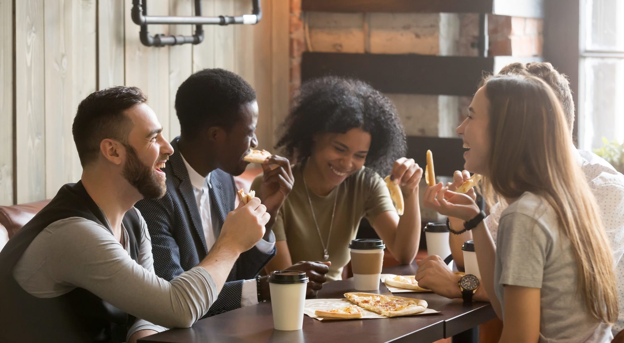
[[[585,49],[624,51],[624,1],[583,0],[583,3]]]

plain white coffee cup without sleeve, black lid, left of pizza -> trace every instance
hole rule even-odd
[[[303,271],[274,271],[269,276],[273,327],[293,331],[303,327],[308,277]]]

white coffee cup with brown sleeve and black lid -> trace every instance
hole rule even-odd
[[[357,291],[379,289],[385,248],[381,239],[373,238],[353,239],[349,244],[353,284]]]

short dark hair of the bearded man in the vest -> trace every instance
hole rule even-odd
[[[97,160],[100,143],[106,138],[127,143],[132,119],[124,112],[146,101],[140,89],[125,86],[98,90],[82,100],[72,125],[80,165]]]

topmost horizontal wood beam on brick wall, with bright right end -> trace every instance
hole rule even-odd
[[[303,0],[303,11],[492,13],[542,17],[544,0]]]

